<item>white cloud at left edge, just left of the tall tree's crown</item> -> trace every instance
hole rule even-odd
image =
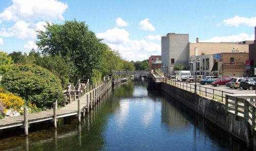
[[[0,36],[10,37],[15,36],[18,39],[35,39],[36,31],[42,30],[44,31],[44,25],[46,22],[40,21],[37,24],[34,23],[26,23],[25,21],[17,21],[13,27],[10,27],[6,30],[6,28],[2,28],[0,30]]]

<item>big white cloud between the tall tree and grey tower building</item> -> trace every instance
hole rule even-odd
[[[151,55],[161,55],[161,45],[146,40],[132,40],[129,32],[124,29],[114,28],[105,33],[96,34],[112,49],[117,50],[123,59],[142,61]]]

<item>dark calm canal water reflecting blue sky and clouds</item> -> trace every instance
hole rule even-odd
[[[30,131],[30,130],[29,130]],[[122,84],[89,114],[0,139],[0,150],[248,150],[173,98],[148,89],[147,81]]]

